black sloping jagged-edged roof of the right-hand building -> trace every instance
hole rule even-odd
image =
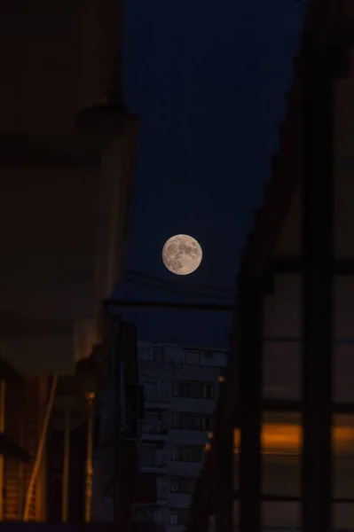
[[[335,36],[344,35],[344,27],[354,20],[354,13],[350,20],[349,12],[350,0],[309,0],[299,52],[294,60],[293,85],[287,93],[286,119],[279,126],[279,151],[272,156],[271,179],[265,184],[264,200],[256,210],[255,223],[241,257],[241,271],[248,271],[252,277],[264,271],[300,183],[300,74],[304,38],[311,35],[319,50],[324,43],[333,43]]]

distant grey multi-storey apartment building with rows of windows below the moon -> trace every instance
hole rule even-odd
[[[175,343],[140,343],[138,372],[144,386],[142,467],[156,481],[148,512],[170,532],[185,528],[201,472],[227,352]]]

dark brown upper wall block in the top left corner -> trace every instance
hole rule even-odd
[[[121,12],[121,0],[2,3],[0,133],[65,132],[101,103],[120,81]]]

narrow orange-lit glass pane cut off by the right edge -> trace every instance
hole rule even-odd
[[[333,417],[334,498],[354,498],[354,416]]]

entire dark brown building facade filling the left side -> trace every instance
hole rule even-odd
[[[57,429],[75,432],[66,441],[83,473],[105,368],[103,300],[122,280],[138,134],[121,98],[122,4],[0,6],[0,351],[23,378],[4,387],[0,374],[1,430],[30,455],[4,458],[0,521],[50,517],[56,444],[47,443]],[[86,473],[70,478],[87,521]],[[59,516],[69,518],[61,508]]]

